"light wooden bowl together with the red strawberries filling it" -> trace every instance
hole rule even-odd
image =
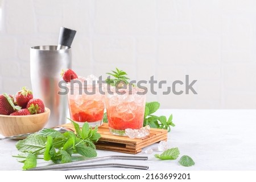
[[[14,96],[0,94],[0,134],[9,137],[38,132],[47,124],[50,113],[26,87]]]

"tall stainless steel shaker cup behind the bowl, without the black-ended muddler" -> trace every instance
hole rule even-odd
[[[67,95],[59,95],[61,70],[71,68],[71,48],[57,50],[57,45],[33,46],[30,49],[30,76],[34,98],[51,109],[46,128],[64,124],[67,120]]]

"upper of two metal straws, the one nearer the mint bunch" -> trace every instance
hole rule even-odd
[[[147,160],[148,157],[147,156],[109,155],[109,156],[101,156],[101,157],[98,157],[98,158],[85,159],[85,160],[80,160],[80,161],[70,162],[70,163],[55,164],[55,165],[52,165],[52,166],[35,167],[35,168],[31,168],[30,170],[33,170],[33,171],[55,170],[55,169],[60,170],[60,169],[63,169],[65,167],[70,167],[70,166],[75,166],[75,165],[81,167],[81,165],[85,164],[85,163],[97,162],[97,161],[109,160],[109,159]],[[95,164],[95,165],[97,165],[97,164]],[[88,165],[88,166],[95,166],[95,165]],[[98,164],[98,165],[100,165],[100,164]],[[114,167],[114,166],[112,166],[112,167]],[[90,167],[90,168],[92,168],[92,167]]]

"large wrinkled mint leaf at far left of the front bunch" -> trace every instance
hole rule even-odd
[[[16,148],[22,153],[43,153],[46,149],[46,137],[31,134],[26,139],[16,143]]]

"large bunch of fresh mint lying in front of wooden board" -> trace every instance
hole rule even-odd
[[[54,129],[43,129],[31,134],[26,139],[16,143],[16,149],[21,153],[14,156],[23,162],[23,170],[36,167],[36,160],[52,160],[54,163],[68,163],[72,161],[72,154],[80,154],[86,158],[97,156],[94,142],[101,137],[98,128],[92,129],[88,122],[82,129],[71,120],[76,134],[73,132],[60,133]],[[23,160],[20,160],[23,158]]]

